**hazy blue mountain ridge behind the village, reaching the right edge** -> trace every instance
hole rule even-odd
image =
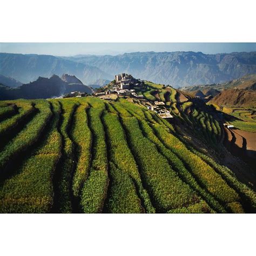
[[[202,52],[133,52],[118,56],[65,57],[116,75],[153,80],[174,87],[222,83],[256,73],[256,52],[206,55]]]

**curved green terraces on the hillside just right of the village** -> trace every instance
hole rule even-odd
[[[172,123],[178,130],[183,127],[193,136],[213,147],[217,147],[223,139],[223,131],[217,121],[216,113],[199,99],[173,89],[171,86],[151,82],[145,82],[143,88],[136,88],[136,90],[146,99],[144,102],[134,100],[142,106],[154,104],[155,100],[164,102],[166,110],[170,111],[174,117]]]

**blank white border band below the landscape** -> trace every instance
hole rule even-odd
[[[255,252],[255,214],[1,214],[0,225],[4,256]]]

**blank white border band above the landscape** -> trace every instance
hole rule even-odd
[[[2,0],[0,42],[256,42],[252,0]]]

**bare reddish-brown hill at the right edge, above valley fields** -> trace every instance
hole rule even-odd
[[[256,107],[256,92],[244,89],[223,90],[210,103],[221,106]]]

